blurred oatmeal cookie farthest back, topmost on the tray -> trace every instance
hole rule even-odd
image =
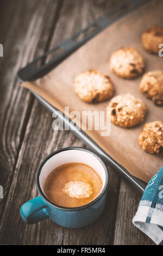
[[[147,28],[141,35],[143,47],[151,53],[158,53],[159,45],[163,44],[163,27]]]

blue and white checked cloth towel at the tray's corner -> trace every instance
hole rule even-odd
[[[163,245],[163,167],[149,181],[133,223],[156,245]]]

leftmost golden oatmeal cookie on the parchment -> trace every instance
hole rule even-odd
[[[95,70],[78,75],[74,80],[74,87],[80,99],[89,103],[107,100],[114,92],[110,77]]]

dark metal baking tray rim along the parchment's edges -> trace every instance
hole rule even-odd
[[[40,57],[33,60],[33,62],[26,65],[24,68],[20,69],[17,72],[18,80],[22,82],[26,81],[34,81],[37,78],[40,78],[46,75],[49,71],[54,69],[58,66],[63,60],[65,60],[71,53],[76,51],[80,46],[84,45],[87,41],[89,41],[93,36],[97,35],[101,31],[103,31],[106,27],[110,26],[112,23],[116,22],[117,20],[121,19],[125,15],[129,14],[131,11],[139,8],[142,4],[148,2],[147,0],[130,0],[126,1],[120,7],[115,10],[112,10],[110,13],[106,14],[105,16],[101,17],[97,21],[93,22],[91,25],[87,26],[86,28],[82,29],[82,31],[74,34],[71,38],[67,39],[61,44],[53,47],[48,52],[43,53]],[[82,40],[78,40],[79,36],[83,36],[86,34]],[[55,58],[49,60],[48,63],[42,64],[41,66],[36,66],[37,62],[44,63],[44,60],[49,54],[61,49],[61,54],[57,55]],[[32,92],[32,91],[31,91]],[[135,176],[131,175],[126,168],[121,166],[118,162],[116,162],[112,157],[110,157],[102,148],[99,147],[97,143],[95,143],[83,130],[79,129],[76,126],[74,129],[74,125],[72,124],[71,119],[66,117],[64,114],[58,111],[57,108],[52,106],[46,100],[44,100],[38,94],[32,92],[34,96],[48,109],[50,112],[55,112],[58,117],[64,121],[65,125],[70,127],[70,130],[93,151],[95,151],[102,159],[109,165],[111,165],[124,179],[128,180],[134,187],[139,190],[139,192],[143,193],[145,187],[147,186],[146,182],[136,178]],[[70,122],[71,121],[71,122]]]

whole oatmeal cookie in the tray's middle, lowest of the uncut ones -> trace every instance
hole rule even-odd
[[[107,108],[111,122],[122,127],[132,127],[141,123],[146,110],[145,103],[130,94],[112,98]]]

